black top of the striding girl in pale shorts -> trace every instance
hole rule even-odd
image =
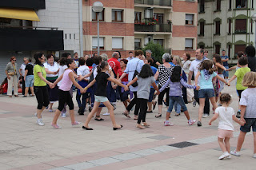
[[[107,84],[107,79],[110,77],[107,75],[105,72],[98,73],[97,76],[95,77],[97,81],[97,89],[95,92],[96,96],[102,96],[106,97],[106,84]]]

